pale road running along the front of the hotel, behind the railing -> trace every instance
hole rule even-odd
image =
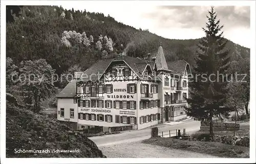
[[[183,132],[183,128],[186,129],[186,133],[191,133],[200,130],[200,122],[188,120],[181,124],[177,125],[167,125],[167,124],[160,124],[157,125],[159,127],[159,135],[161,131],[164,132],[165,135],[169,135],[168,130],[172,130],[170,133],[176,133],[176,129],[180,129],[181,133]],[[176,134],[173,134],[174,136]],[[142,130],[131,130],[131,131],[124,131],[117,134],[109,134],[109,135],[101,135],[101,136],[93,136],[90,139],[98,146],[111,146],[116,144],[124,144],[124,143],[133,143],[138,142],[143,139],[147,139],[151,137],[151,128],[146,128]]]

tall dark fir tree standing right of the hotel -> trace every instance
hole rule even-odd
[[[214,7],[206,16],[205,32],[197,51],[194,75],[190,79],[190,98],[187,99],[187,115],[195,120],[209,124],[210,135],[213,136],[212,118],[220,114],[228,115],[230,109],[224,106],[227,92],[226,70],[229,66],[229,50],[225,49],[227,40],[223,38],[220,20]]]

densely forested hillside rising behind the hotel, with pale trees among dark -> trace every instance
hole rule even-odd
[[[74,65],[85,70],[96,60],[121,52],[135,57],[154,54],[159,41],[167,61],[184,59],[191,65],[195,64],[199,39],[166,39],[148,30],[126,26],[109,15],[86,10],[12,6],[7,7],[7,12],[7,57],[17,66],[24,60],[42,58],[56,69],[57,74]],[[225,22],[222,23],[225,25]],[[249,49],[231,41],[227,43],[227,48],[232,60],[249,57]]]

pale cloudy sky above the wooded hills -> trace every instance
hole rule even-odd
[[[117,3],[114,6],[86,3],[63,4],[64,9],[108,14],[125,25],[169,39],[196,39],[204,36],[202,27],[207,21],[210,6],[156,6]],[[250,6],[215,6],[217,19],[224,25],[224,37],[250,48]]]

